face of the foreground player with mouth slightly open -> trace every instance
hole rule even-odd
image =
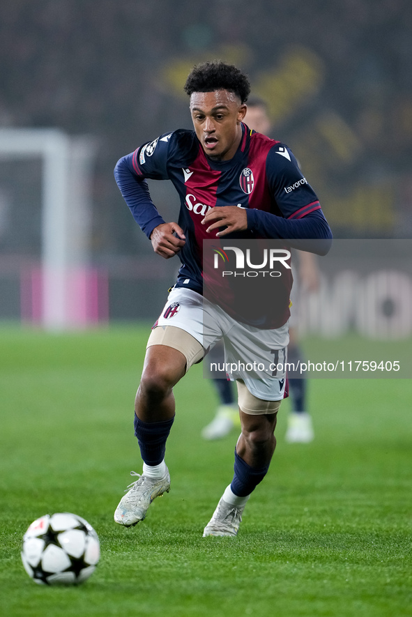
[[[241,122],[246,105],[233,92],[194,92],[190,96],[190,113],[197,139],[209,158],[233,158],[242,139]]]

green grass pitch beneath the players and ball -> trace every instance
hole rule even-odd
[[[141,471],[132,418],[147,333],[1,328],[1,614],[412,615],[412,381],[310,381],[315,441],[284,443],[284,402],[273,464],[238,537],[202,538],[231,480],[236,434],[201,440],[216,401],[194,367],[175,390],[171,491],[125,529],[113,512]],[[61,511],[96,528],[100,563],[82,586],[36,586],[22,535]]]

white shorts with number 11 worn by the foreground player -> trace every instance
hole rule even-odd
[[[156,326],[174,326],[192,335],[204,347],[205,364],[208,350],[223,340],[224,367],[207,366],[205,376],[224,370],[232,381],[242,379],[247,390],[259,399],[277,401],[284,397],[288,322],[273,330],[247,326],[196,291],[178,287],[171,290]]]

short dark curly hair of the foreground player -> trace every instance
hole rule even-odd
[[[222,60],[197,64],[189,73],[185,83],[185,92],[190,96],[193,92],[214,92],[229,90],[246,102],[250,94],[250,83],[245,73],[233,64]]]

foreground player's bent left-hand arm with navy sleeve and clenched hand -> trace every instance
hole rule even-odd
[[[164,180],[171,135],[161,136],[123,156],[114,168],[114,177],[140,229],[150,238],[155,253],[165,259],[185,244],[183,229],[176,222],[165,222],[151,199],[145,178]]]

